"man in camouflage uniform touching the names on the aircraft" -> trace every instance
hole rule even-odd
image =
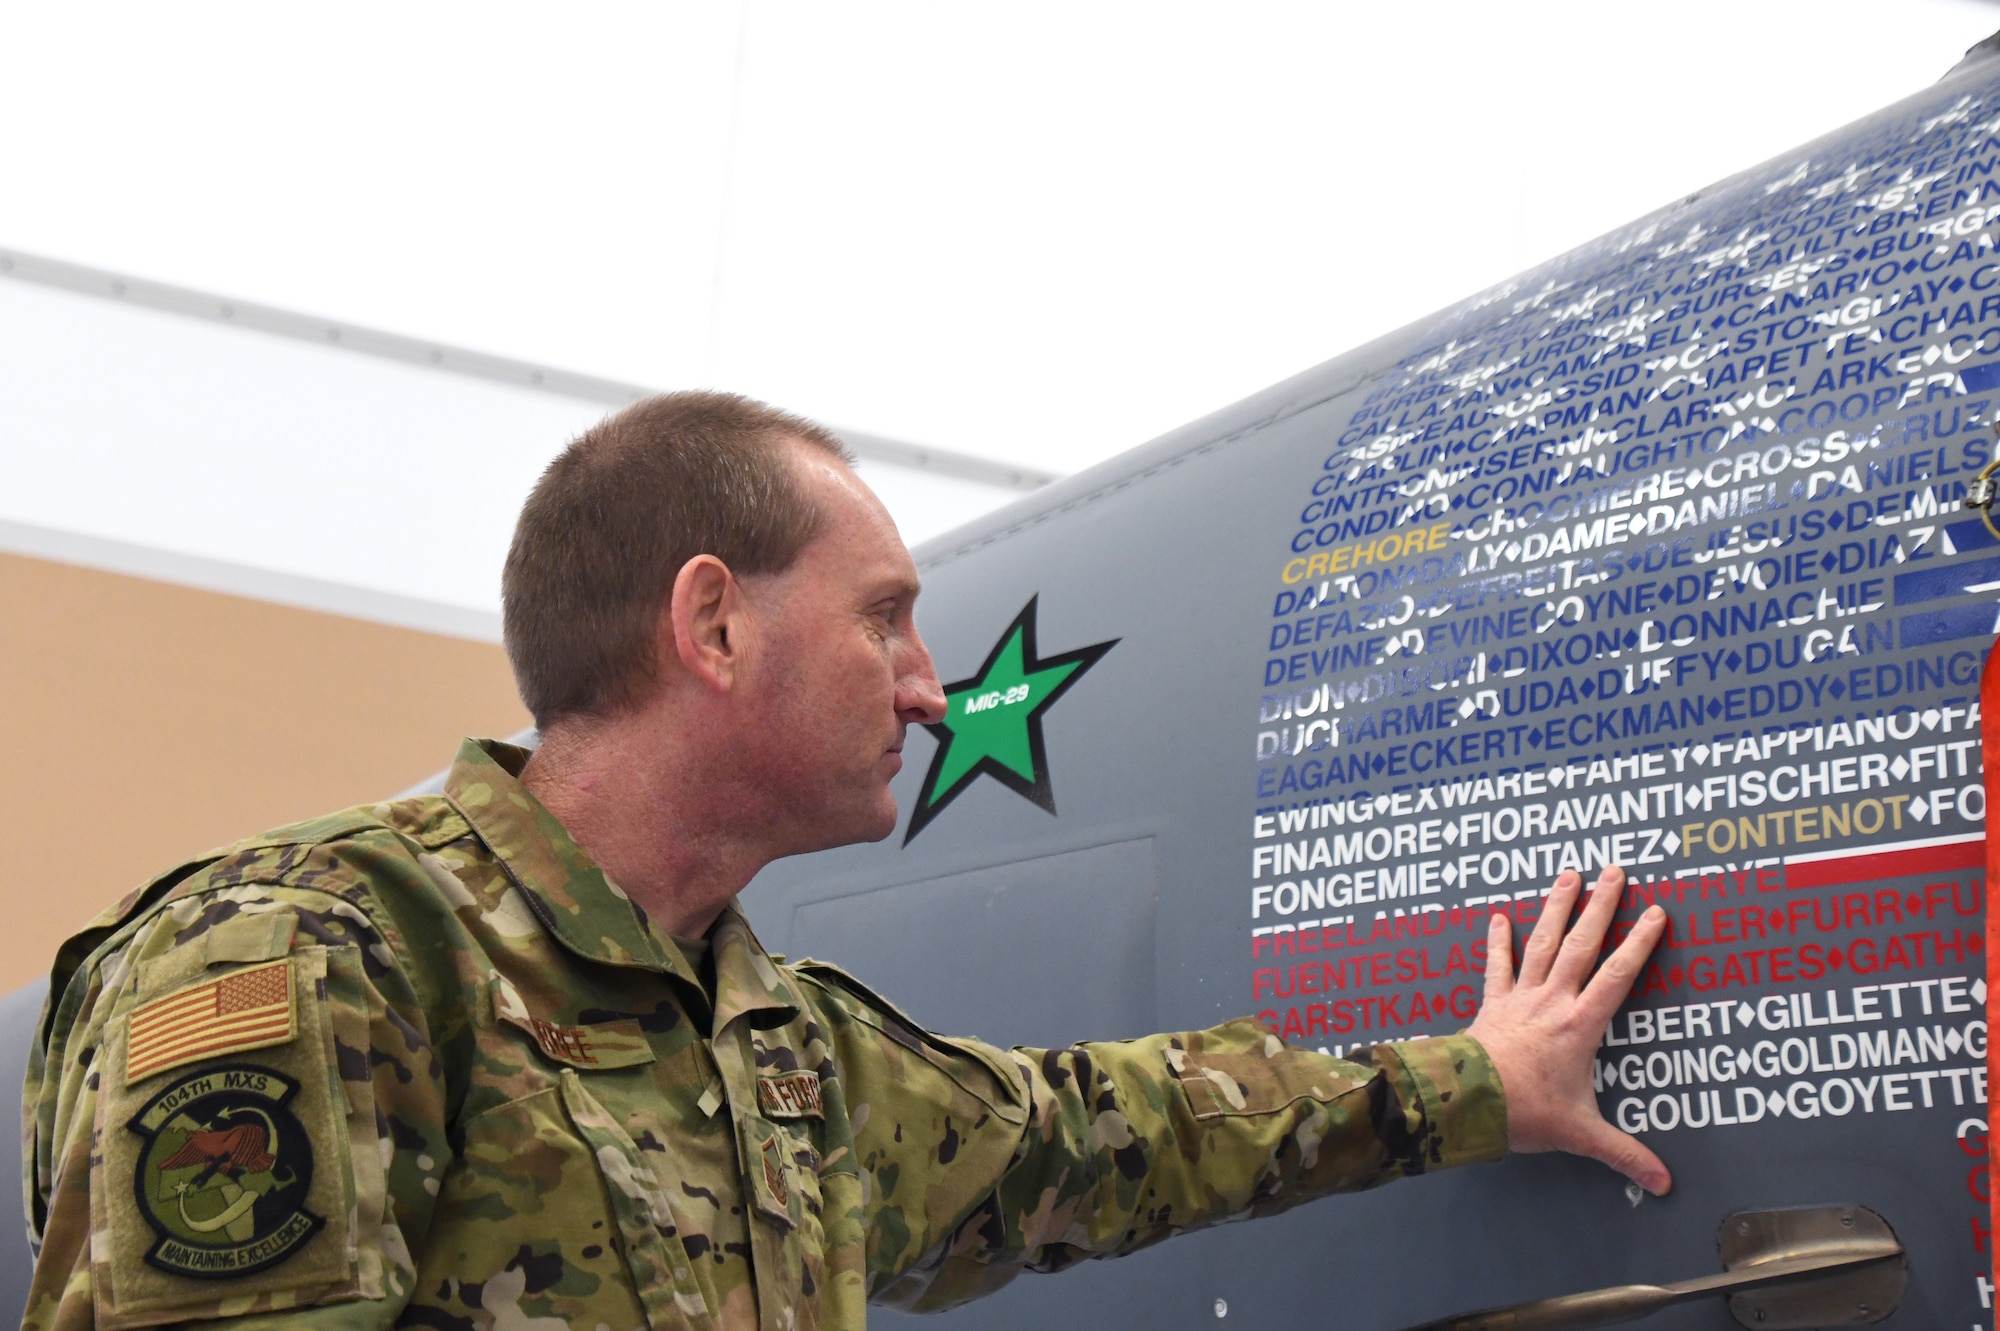
[[[26,1087],[26,1325],[862,1327],[1324,1193],[1572,1149],[1654,1191],[1590,1055],[1622,877],[1558,879],[1472,1031],[1354,1061],[1252,1021],[926,1033],[764,953],[734,895],[886,835],[942,693],[832,436],[640,404],[544,476],[508,652],[544,729],[442,795],[214,851],[56,961]]]

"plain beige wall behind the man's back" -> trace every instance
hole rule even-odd
[[[0,554],[0,991],[180,859],[526,723],[492,644]]]

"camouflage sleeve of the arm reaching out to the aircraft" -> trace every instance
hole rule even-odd
[[[1238,1019],[1000,1051],[928,1035],[832,967],[806,977],[828,997],[878,1303],[946,1309],[1020,1271],[1506,1153],[1500,1079],[1464,1035],[1344,1061]]]

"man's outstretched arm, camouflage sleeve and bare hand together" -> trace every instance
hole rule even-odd
[[[794,971],[836,1049],[860,1175],[838,1221],[866,1233],[876,1301],[934,1311],[1016,1273],[1516,1151],[1566,1149],[1666,1191],[1666,1167],[1596,1107],[1590,1061],[1664,929],[1652,911],[1592,977],[1624,873],[1556,879],[1514,973],[1488,943],[1466,1035],[1336,1059],[1254,1021],[1068,1049],[1002,1051],[916,1027],[836,967]],[[1470,1035],[1470,1039],[1468,1039]]]

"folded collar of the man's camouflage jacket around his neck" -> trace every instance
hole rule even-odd
[[[646,911],[604,875],[588,851],[520,783],[528,749],[498,739],[466,739],[444,777],[450,799],[514,885],[542,927],[568,951],[604,965],[676,975],[702,991],[696,969]],[[750,1011],[788,1009],[752,1025],[782,1025],[800,1009],[798,995],[750,931],[736,901],[710,929],[716,951],[714,1027]]]

